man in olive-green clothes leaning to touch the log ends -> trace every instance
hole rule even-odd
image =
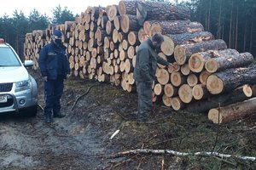
[[[172,65],[156,53],[156,49],[160,49],[162,42],[164,42],[164,37],[160,33],[156,33],[153,37],[142,42],[137,50],[133,76],[136,80],[138,94],[137,122],[150,122],[148,118],[152,109],[152,86],[157,63],[166,66]]]

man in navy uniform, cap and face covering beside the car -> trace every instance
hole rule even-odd
[[[38,64],[44,79],[45,122],[51,122],[51,115],[64,117],[61,110],[61,95],[63,94],[63,80],[69,77],[70,67],[66,54],[66,47],[61,42],[61,31],[55,30],[53,40],[40,50]]]

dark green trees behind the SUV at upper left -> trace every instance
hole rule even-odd
[[[60,5],[53,9],[53,15],[53,19],[50,19],[46,14],[40,14],[36,8],[32,9],[28,17],[22,11],[17,10],[14,11],[13,17],[4,14],[0,17],[0,37],[15,48],[20,59],[23,59],[23,43],[26,33],[45,30],[50,23],[61,24],[66,20],[74,20],[72,12],[67,7],[62,10]]]

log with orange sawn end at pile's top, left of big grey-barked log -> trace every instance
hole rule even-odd
[[[136,15],[137,1],[125,0],[119,1],[119,14],[134,14]]]

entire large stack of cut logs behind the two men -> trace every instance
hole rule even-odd
[[[40,48],[51,41],[54,29],[63,32],[74,77],[111,82],[128,92],[136,90],[133,70],[138,46],[161,32],[165,41],[158,54],[173,65],[171,69],[158,65],[153,101],[175,111],[210,110],[212,115],[216,111],[211,109],[218,105],[255,96],[250,86],[256,80],[252,54],[240,54],[214,39],[201,23],[189,20],[188,8],[131,0],[106,8],[88,7],[74,21],[26,34],[25,56],[34,61],[34,69]]]

